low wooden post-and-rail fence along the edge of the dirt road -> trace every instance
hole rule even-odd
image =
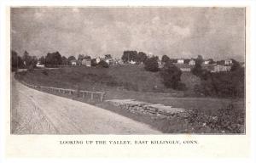
[[[88,98],[90,99],[96,99],[99,98],[100,101],[103,101],[103,98],[105,96],[105,93],[103,92],[93,92],[93,91],[84,91],[84,90],[74,90],[74,89],[65,89],[65,88],[60,88],[60,87],[44,87],[44,86],[35,86],[31,84],[27,84],[26,82],[22,82],[22,84],[26,85],[26,87],[31,87],[34,89],[42,90],[42,91],[49,91],[53,93],[63,93],[63,94],[78,94],[79,96],[82,95],[82,98]]]

